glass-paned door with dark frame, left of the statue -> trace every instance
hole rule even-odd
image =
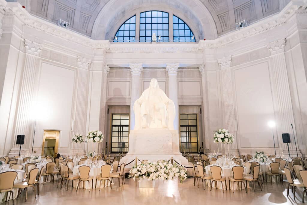
[[[129,114],[112,114],[111,152],[128,152]]]

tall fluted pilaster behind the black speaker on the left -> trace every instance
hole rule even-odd
[[[41,44],[25,39],[25,67],[22,72],[21,86],[17,105],[15,128],[13,132],[13,148],[10,154],[17,154],[20,145],[15,144],[17,135],[25,135],[25,142],[21,146],[21,153],[26,153],[32,146],[34,125],[35,125],[35,75],[38,56],[41,52]],[[30,150],[31,151],[31,150]]]

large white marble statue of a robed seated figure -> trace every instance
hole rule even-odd
[[[175,105],[163,90],[157,79],[151,79],[149,88],[134,102],[134,129],[169,128],[174,129]]]

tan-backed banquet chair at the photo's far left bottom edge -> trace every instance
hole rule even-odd
[[[5,171],[0,173],[0,193],[10,192],[9,200],[12,195],[13,205],[14,205],[13,186],[16,177],[17,177],[16,171]],[[6,201],[7,201],[7,195],[6,195]]]

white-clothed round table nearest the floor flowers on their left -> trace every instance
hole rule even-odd
[[[80,172],[79,172],[79,167],[81,167],[81,166],[88,166],[88,165],[77,165],[77,166],[74,166],[74,168],[72,169],[72,174],[73,175],[80,175]],[[99,167],[95,167],[95,166],[92,166],[91,167],[91,170],[90,170],[90,177],[93,177],[93,189],[95,189],[95,187],[97,187],[97,188],[99,188],[99,184],[100,184],[100,181],[101,180],[97,180],[97,184],[96,184],[96,186],[95,186],[95,182],[96,182],[96,177],[97,177],[97,175],[100,175],[101,174],[101,168],[100,168],[101,166],[99,166]],[[112,166],[112,168],[111,168],[111,171],[110,171],[110,173],[112,173],[112,171],[113,171],[113,166]],[[111,180],[111,179],[110,179]],[[77,187],[77,185],[78,185],[78,182],[79,182],[79,179],[75,179],[75,180],[73,180],[73,187]],[[80,184],[79,184],[79,187],[80,188],[84,188],[83,187],[83,184],[85,185],[85,189],[89,189],[89,188],[91,188],[92,187],[92,180],[90,180],[89,181],[89,183],[88,182],[80,182]],[[101,187],[103,187],[103,184],[104,184],[104,181],[101,183]],[[113,183],[112,183],[113,184]],[[88,186],[89,185],[89,186]],[[110,183],[106,183],[106,186],[110,186]]]

